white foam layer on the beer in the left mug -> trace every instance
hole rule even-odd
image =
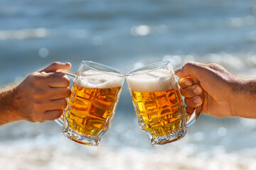
[[[75,81],[75,86],[107,89],[122,86],[124,77],[115,73],[100,73],[94,70],[82,72]]]

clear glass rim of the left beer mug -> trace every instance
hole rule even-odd
[[[103,70],[100,70],[100,69],[96,69],[92,66],[90,66],[88,63],[90,64],[95,64],[97,66],[100,66],[100,67],[105,67],[107,69],[110,69],[110,72],[107,72],[107,71],[103,71]],[[100,64],[98,62],[92,62],[92,61],[88,61],[88,60],[82,60],[81,64],[83,64],[84,66],[88,67],[89,69],[92,69],[96,72],[100,72],[100,73],[104,73],[104,74],[110,74],[110,75],[114,75],[114,76],[119,76],[119,77],[124,77],[125,75],[122,73],[122,72],[119,72],[117,69],[114,69],[112,67],[109,67],[105,64]],[[117,74],[112,74],[112,73],[117,73]]]

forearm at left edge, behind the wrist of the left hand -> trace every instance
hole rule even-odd
[[[15,101],[16,87],[0,89],[0,125],[21,120]]]

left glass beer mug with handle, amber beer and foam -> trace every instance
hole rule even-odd
[[[111,67],[82,61],[77,73],[60,70],[73,79],[68,106],[56,120],[63,134],[75,142],[97,146],[110,128],[117,108],[124,74]]]

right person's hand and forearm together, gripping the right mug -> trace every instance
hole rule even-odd
[[[256,79],[230,74],[219,64],[188,62],[175,74],[188,111],[203,105],[202,112],[216,117],[256,118]]]

